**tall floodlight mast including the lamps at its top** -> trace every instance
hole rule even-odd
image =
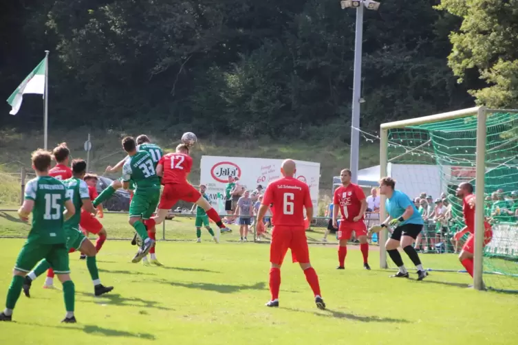
[[[351,118],[351,182],[358,183],[358,161],[360,156],[360,104],[365,102],[361,97],[362,78],[362,40],[363,40],[363,8],[378,10],[380,3],[373,0],[340,1],[343,10],[356,8],[356,34],[354,38],[354,80],[352,91]]]

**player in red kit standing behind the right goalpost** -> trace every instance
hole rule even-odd
[[[459,241],[462,235],[469,232],[470,235],[464,243],[460,251],[459,261],[466,268],[468,274],[473,277],[473,252],[475,249],[475,194],[473,194],[473,185],[468,182],[460,183],[457,188],[457,197],[462,198],[462,213],[464,214],[464,223],[466,227],[454,235],[455,241]],[[480,205],[484,207],[484,205]],[[484,247],[490,243],[493,238],[493,230],[491,225],[484,221]]]

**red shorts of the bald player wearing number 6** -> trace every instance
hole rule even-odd
[[[274,226],[272,230],[272,244],[270,245],[270,263],[282,265],[288,249],[292,249],[294,263],[310,262],[310,250],[307,247],[305,230]]]

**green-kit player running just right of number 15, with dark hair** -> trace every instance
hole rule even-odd
[[[83,159],[74,159],[72,161],[72,178],[63,181],[63,184],[67,188],[67,197],[74,203],[76,214],[65,221],[63,228],[65,229],[65,235],[67,236],[67,249],[69,253],[75,252],[76,250],[86,255],[87,268],[91,276],[92,282],[94,282],[94,293],[96,296],[101,296],[104,293],[108,293],[113,290],[114,287],[105,287],[100,283],[99,270],[97,268],[96,254],[97,249],[93,243],[79,231],[79,221],[81,219],[80,209],[83,209],[89,213],[95,214],[96,208],[91,204],[90,194],[88,192],[88,186],[83,177],[86,174],[86,162]],[[36,277],[43,274],[51,267],[51,263],[43,259],[40,261],[38,266],[34,268],[23,282],[23,293],[25,296],[30,297],[30,286],[32,281]]]

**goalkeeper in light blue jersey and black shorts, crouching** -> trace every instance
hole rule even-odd
[[[380,225],[375,225],[377,229],[380,227],[393,227],[391,237],[385,243],[385,249],[389,253],[392,261],[398,266],[399,271],[392,277],[409,278],[409,273],[403,265],[403,260],[398,252],[398,247],[402,249],[412,260],[418,269],[418,280],[423,280],[428,276],[421,265],[418,252],[412,247],[418,234],[422,231],[424,221],[419,214],[416,205],[413,204],[407,194],[400,190],[394,190],[396,181],[391,177],[383,177],[380,181],[380,194],[385,195],[385,208],[389,217]],[[374,227],[371,227],[373,229]]]

